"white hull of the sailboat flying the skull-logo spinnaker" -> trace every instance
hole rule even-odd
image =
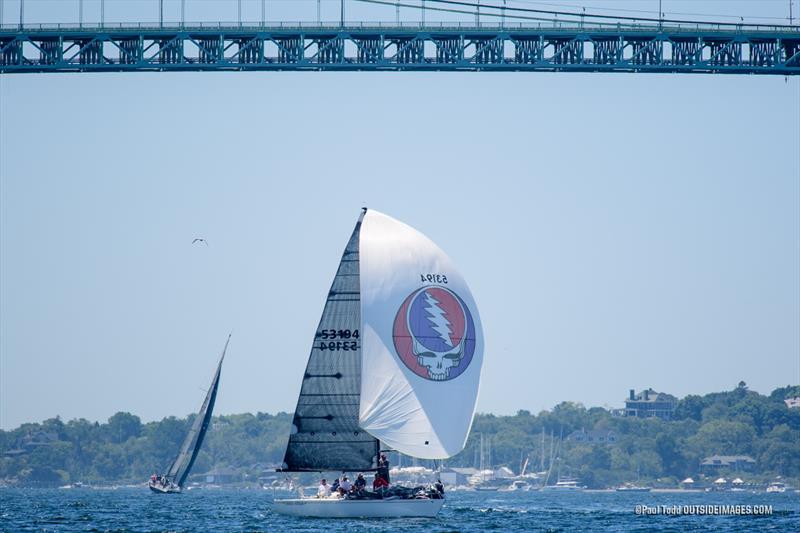
[[[317,518],[434,517],[442,508],[440,500],[338,500],[294,498],[275,500],[276,513]]]

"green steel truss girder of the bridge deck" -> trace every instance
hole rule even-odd
[[[216,27],[0,31],[0,73],[431,70],[800,73],[800,30]]]

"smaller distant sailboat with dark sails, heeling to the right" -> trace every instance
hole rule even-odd
[[[214,411],[214,402],[217,399],[222,361],[225,359],[225,352],[228,350],[230,341],[231,336],[228,335],[228,340],[225,341],[225,347],[222,349],[222,355],[219,358],[219,364],[217,364],[217,370],[214,372],[214,379],[211,380],[211,387],[206,393],[206,398],[203,400],[203,405],[200,407],[200,412],[197,413],[189,433],[183,439],[178,456],[172,461],[166,474],[158,478],[153,476],[150,479],[148,486],[153,492],[170,494],[183,490],[183,485],[186,482],[186,478],[189,477],[189,472],[192,470],[195,459],[197,459],[197,454],[200,453],[200,447],[203,445],[203,438],[206,436],[208,425],[211,423],[211,414]]]

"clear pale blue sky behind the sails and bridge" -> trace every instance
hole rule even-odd
[[[362,205],[461,267],[480,411],[800,382],[798,79],[6,75],[0,427],[193,412],[229,331],[217,412],[292,410]]]

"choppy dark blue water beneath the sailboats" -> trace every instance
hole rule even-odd
[[[285,496],[288,496],[285,495]],[[434,519],[292,518],[264,490],[0,489],[2,532],[800,531],[800,494],[451,492]],[[636,505],[772,505],[771,516],[637,516]]]

